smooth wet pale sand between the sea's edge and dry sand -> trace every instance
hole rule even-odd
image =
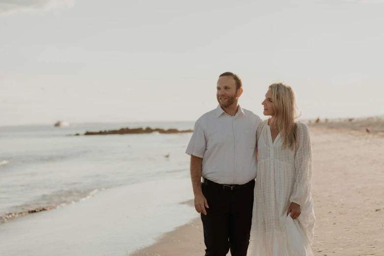
[[[135,183],[15,218],[0,226],[1,255],[127,256],[195,217],[190,205],[179,203],[191,199],[191,189],[186,178]]]

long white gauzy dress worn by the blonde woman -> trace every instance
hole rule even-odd
[[[313,256],[315,215],[310,192],[312,149],[307,125],[298,123],[298,143],[282,149],[279,133],[272,142],[268,120],[257,129],[257,177],[248,256]],[[296,220],[288,215],[294,202]]]

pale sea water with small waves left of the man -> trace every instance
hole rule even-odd
[[[191,133],[66,136],[123,127],[191,129],[193,122],[0,127],[0,216],[78,203],[113,187],[189,177],[184,152]]]

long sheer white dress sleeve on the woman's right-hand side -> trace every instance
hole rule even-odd
[[[295,154],[295,185],[290,197],[291,203],[303,205],[310,197],[312,179],[312,148],[309,128],[299,125],[299,140]]]

